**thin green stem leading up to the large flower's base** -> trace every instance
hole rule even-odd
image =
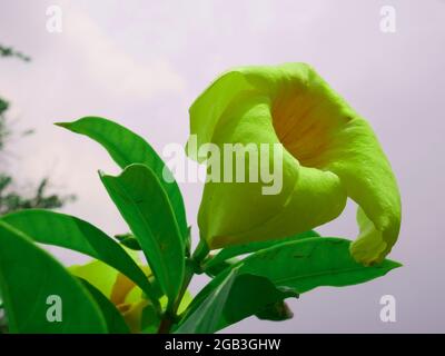
[[[176,319],[178,307],[185,293],[187,291],[188,285],[194,278],[194,275],[196,273],[200,273],[200,264],[207,257],[208,253],[209,248],[207,247],[207,244],[204,239],[200,239],[191,257],[186,259],[186,270],[181,288],[176,300],[171,304],[169,303],[169,306],[167,306],[167,310],[159,325],[158,334],[168,334],[170,332],[170,328]]]

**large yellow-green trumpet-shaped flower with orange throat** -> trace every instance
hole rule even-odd
[[[189,112],[197,146],[189,140],[188,155],[195,159],[204,160],[197,150],[205,144],[221,152],[225,144],[284,148],[276,195],[264,195],[260,180],[206,182],[198,225],[210,248],[315,228],[336,218],[349,197],[358,205],[360,228],[350,246],[354,258],[369,265],[390,251],[400,225],[390,165],[367,121],[312,67],[233,69]],[[269,160],[273,167],[274,157]],[[224,164],[221,170],[227,170]]]

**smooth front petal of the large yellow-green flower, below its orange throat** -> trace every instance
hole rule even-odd
[[[261,144],[268,145],[269,151],[279,144],[265,97],[241,95],[227,108],[212,134],[212,142],[221,151],[221,177],[228,169],[224,165],[225,144],[255,145],[258,151]],[[269,167],[274,165],[270,155]],[[284,150],[280,176],[283,187],[276,195],[264,195],[260,179],[206,184],[198,225],[210,248],[287,237],[325,224],[344,209],[346,191],[336,175],[303,167]]]

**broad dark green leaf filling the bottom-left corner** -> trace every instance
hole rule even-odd
[[[10,333],[107,333],[100,310],[80,281],[22,233],[0,221],[0,289]],[[56,301],[61,322],[49,322]]]

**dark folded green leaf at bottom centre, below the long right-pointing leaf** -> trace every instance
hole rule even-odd
[[[192,313],[186,314],[176,333],[215,333],[297,296],[289,288],[277,288],[267,278],[239,274],[237,268],[230,269],[220,283],[209,285],[211,291],[202,290],[202,299],[200,294],[197,296],[201,301]]]

